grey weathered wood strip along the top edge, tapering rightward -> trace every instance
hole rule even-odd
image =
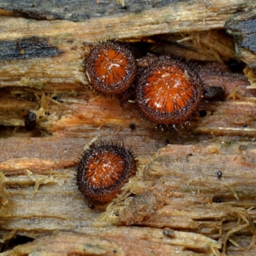
[[[179,0],[172,0],[177,3]],[[31,19],[44,20],[73,20],[84,21],[92,18],[107,17],[110,15],[128,15],[129,13],[142,13],[145,10],[154,10],[168,6],[170,1],[144,1],[144,0],[61,0],[40,1],[33,3],[28,0],[1,0],[0,9],[9,10],[15,15],[25,15]],[[67,8],[68,7],[68,8]]]

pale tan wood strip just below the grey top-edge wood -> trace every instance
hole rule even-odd
[[[113,36],[135,38],[164,33],[221,29],[230,19],[230,15],[236,13],[237,10],[241,11],[253,6],[255,6],[253,0],[246,2],[243,0],[229,2],[193,0],[173,3],[164,8],[146,10],[143,13],[101,17],[86,22],[1,20],[1,40],[17,39],[19,34],[14,33],[16,30],[22,32],[24,37],[37,35],[92,42],[99,40],[102,36],[106,36],[106,38],[113,38]],[[26,30],[24,31],[22,28],[26,28]]]

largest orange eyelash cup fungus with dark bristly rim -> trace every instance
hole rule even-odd
[[[204,95],[200,77],[189,66],[160,56],[143,70],[136,84],[138,107],[157,124],[179,124],[198,109]]]

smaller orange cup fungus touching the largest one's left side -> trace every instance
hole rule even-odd
[[[124,44],[99,42],[90,47],[85,58],[85,72],[92,88],[103,95],[125,92],[136,77],[136,60]]]

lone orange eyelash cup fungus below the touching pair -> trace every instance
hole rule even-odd
[[[122,142],[95,141],[84,150],[77,165],[77,186],[93,202],[106,204],[135,175],[137,163],[131,149]]]

